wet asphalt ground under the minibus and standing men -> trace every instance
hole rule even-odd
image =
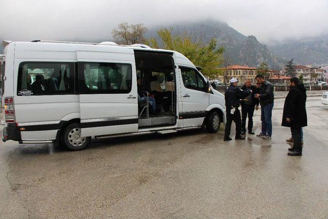
[[[328,217],[319,99],[308,98],[302,157],[286,155],[284,99],[275,100],[272,140],[226,143],[220,129],[94,140],[77,152],[2,142],[0,217]]]

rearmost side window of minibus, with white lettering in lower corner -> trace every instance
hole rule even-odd
[[[74,63],[23,62],[18,69],[18,96],[74,93]]]

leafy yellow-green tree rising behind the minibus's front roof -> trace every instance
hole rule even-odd
[[[175,50],[185,55],[192,63],[202,68],[201,72],[210,78],[217,77],[221,69],[223,47],[216,48],[216,39],[204,43],[201,36],[186,31],[172,34],[173,28],[161,28],[157,38],[150,38],[148,44],[152,48]]]

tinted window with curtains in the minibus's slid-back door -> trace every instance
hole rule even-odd
[[[80,93],[130,93],[132,66],[121,63],[78,63]]]

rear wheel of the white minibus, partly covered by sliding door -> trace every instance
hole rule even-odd
[[[80,124],[78,123],[73,123],[64,130],[62,139],[67,149],[78,151],[89,145],[91,137],[80,137],[80,130]]]

